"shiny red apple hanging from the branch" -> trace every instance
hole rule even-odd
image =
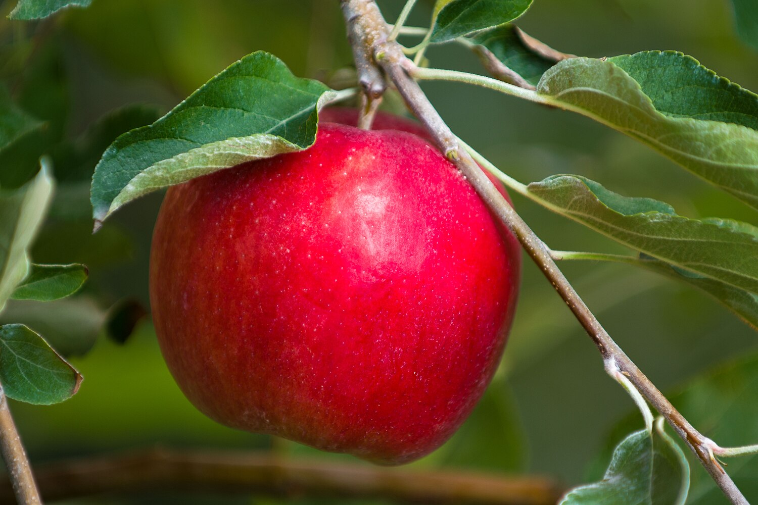
[[[398,130],[420,126],[374,125],[322,122],[305,151],[169,189],[150,299],[168,367],[207,416],[399,464],[484,393],[520,248],[453,164]]]

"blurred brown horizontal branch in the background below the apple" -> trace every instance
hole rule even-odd
[[[61,460],[36,468],[45,500],[152,489],[324,497],[377,497],[421,503],[552,505],[547,479],[464,472],[409,472],[359,464],[291,460],[267,453],[143,450]],[[0,503],[11,499],[0,479]]]

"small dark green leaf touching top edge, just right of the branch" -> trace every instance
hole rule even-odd
[[[429,42],[447,42],[509,23],[529,5],[531,0],[437,0]]]

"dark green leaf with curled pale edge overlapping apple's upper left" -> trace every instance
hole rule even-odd
[[[116,139],[92,177],[93,216],[102,221],[156,189],[308,148],[318,108],[333,96],[324,84],[293,76],[274,56],[252,53],[160,120]]]

